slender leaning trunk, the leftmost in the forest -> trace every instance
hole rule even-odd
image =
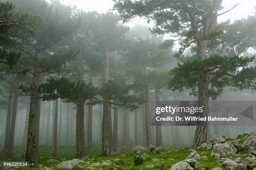
[[[5,126],[5,146],[4,152],[7,154],[9,148],[9,139],[10,139],[10,125],[12,119],[12,108],[13,108],[13,85],[10,85],[9,98],[8,98],[8,109],[7,109],[7,118]]]

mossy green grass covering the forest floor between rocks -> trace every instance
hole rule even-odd
[[[1,148],[0,148],[1,149]],[[215,167],[221,167],[217,159],[210,156],[211,150],[202,150],[196,149],[197,153],[201,156],[200,159],[197,160],[198,170],[211,170]],[[15,148],[15,153],[20,153],[23,156],[20,158],[12,158],[7,159],[4,157],[0,157],[0,161],[23,161],[24,160],[24,148]],[[88,170],[93,163],[100,162],[101,165],[99,167],[95,167],[95,170],[147,170],[147,169],[161,169],[161,163],[164,163],[164,170],[169,170],[169,168],[176,162],[184,160],[191,150],[182,149],[182,148],[163,148],[159,150],[159,153],[146,153],[144,154],[143,161],[140,165],[134,165],[134,155],[131,154],[131,148],[125,148],[118,152],[118,154],[111,155],[109,157],[101,156],[100,149],[94,149],[94,154],[87,155],[86,157],[76,157],[76,149],[75,147],[59,147],[58,157],[53,157],[53,149],[50,147],[40,147],[40,156],[38,157],[38,162],[34,163],[33,167],[25,168],[29,170],[39,170],[41,165],[43,165],[43,169],[45,167],[49,167],[52,170],[56,170],[60,162],[64,160],[72,160],[74,158],[84,160],[84,163],[81,166],[75,166],[74,170]],[[241,157],[245,153],[243,151],[239,151],[236,156],[232,155],[232,157],[228,156],[231,159],[235,159],[236,157]],[[206,156],[207,158],[202,156]],[[157,158],[157,159],[154,159]],[[49,162],[49,159],[53,159],[58,162]],[[102,162],[109,160],[112,164],[108,166],[103,166]],[[154,162],[153,160],[157,160]],[[48,162],[47,162],[48,161]],[[87,164],[87,165],[86,165]],[[154,165],[153,168],[148,168],[146,166]],[[116,169],[115,169],[116,168]],[[20,168],[22,169],[22,168]],[[24,169],[24,168],[23,168]],[[42,168],[41,168],[42,169]],[[224,170],[225,168],[222,167]]]

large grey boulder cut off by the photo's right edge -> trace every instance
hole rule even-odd
[[[256,131],[246,135],[243,138],[244,142],[242,144],[242,147],[247,152],[251,152],[253,150],[256,150]]]

